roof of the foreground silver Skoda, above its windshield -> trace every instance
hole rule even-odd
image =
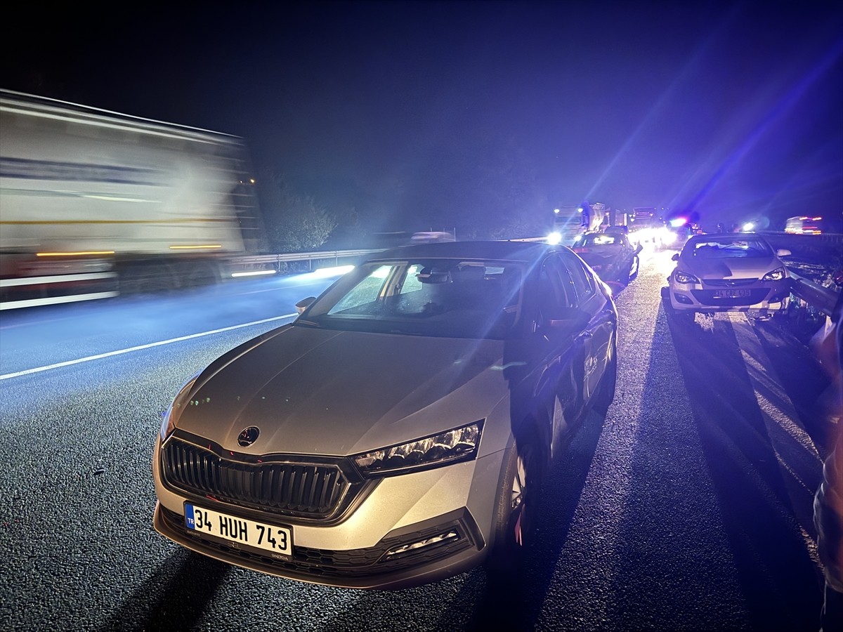
[[[398,246],[371,254],[367,261],[396,259],[478,259],[534,261],[544,254],[567,250],[564,246],[524,241],[451,241]]]

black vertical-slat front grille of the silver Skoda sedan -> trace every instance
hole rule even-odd
[[[352,488],[336,463],[228,460],[175,437],[162,450],[162,473],[168,485],[191,494],[317,519],[333,517]]]

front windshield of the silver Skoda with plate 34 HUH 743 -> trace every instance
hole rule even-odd
[[[454,338],[513,335],[522,266],[511,261],[403,260],[364,265],[299,319],[326,329]]]

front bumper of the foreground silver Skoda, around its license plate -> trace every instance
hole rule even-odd
[[[502,455],[380,479],[341,521],[320,524],[170,490],[160,476],[156,447],[153,524],[188,549],[274,576],[350,588],[414,586],[468,570],[486,557]],[[196,533],[185,525],[185,501],[290,528],[293,552],[264,554]]]

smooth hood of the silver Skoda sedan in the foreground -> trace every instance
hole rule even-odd
[[[202,372],[176,426],[239,453],[367,452],[483,419],[507,394],[502,355],[501,340],[282,327]]]

